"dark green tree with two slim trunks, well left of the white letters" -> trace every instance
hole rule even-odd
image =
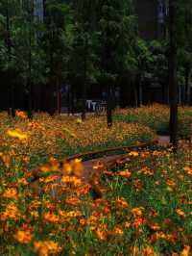
[[[60,114],[60,85],[65,80],[67,72],[68,49],[65,34],[70,23],[70,8],[63,1],[49,0],[45,5],[45,35],[44,47],[46,51],[49,82],[47,90],[50,95],[50,114],[54,113],[54,91],[57,94],[57,112]]]

